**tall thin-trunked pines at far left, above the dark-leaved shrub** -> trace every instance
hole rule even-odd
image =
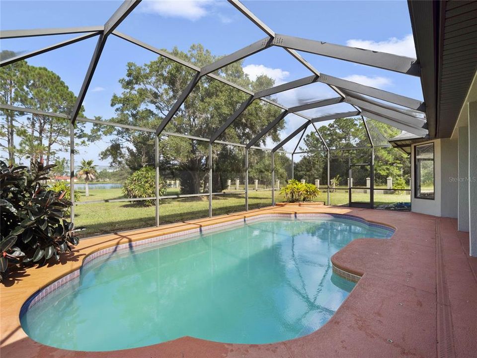
[[[11,51],[2,51],[2,56],[11,57]],[[35,67],[26,61],[19,61],[2,67],[1,102],[19,105],[46,112],[71,114],[76,103],[75,94],[54,72],[45,67]],[[82,115],[81,107],[79,115]],[[9,161],[27,158],[43,161],[49,165],[58,152],[70,149],[70,121],[51,116],[21,112],[2,111],[5,124],[2,129],[7,134]],[[84,123],[76,124],[76,138],[84,136]],[[19,147],[14,138],[20,138]]]

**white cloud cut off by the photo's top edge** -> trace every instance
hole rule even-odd
[[[140,11],[166,17],[184,17],[194,21],[209,13],[211,3],[210,0],[147,0],[143,2]]]

